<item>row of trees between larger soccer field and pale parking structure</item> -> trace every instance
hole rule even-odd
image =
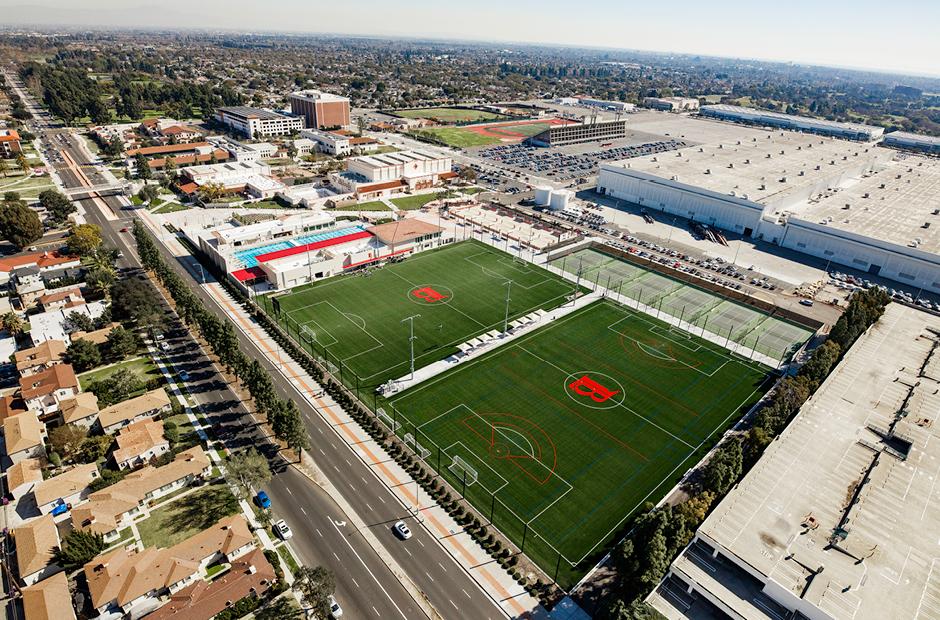
[[[818,347],[796,376],[779,382],[751,428],[725,439],[687,485],[689,498],[677,505],[647,505],[632,523],[630,534],[613,554],[617,581],[607,616],[644,618],[649,613],[642,599],[666,574],[672,559],[685,547],[715,500],[740,479],[764,449],[786,428],[803,403],[853,342],[884,313],[890,301],[881,289],[856,293],[839,317],[829,339]]]

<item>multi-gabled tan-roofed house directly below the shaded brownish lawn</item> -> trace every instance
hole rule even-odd
[[[243,515],[222,519],[169,549],[124,548],[105,553],[85,565],[91,604],[99,614],[152,606],[161,596],[173,596],[205,575],[218,561],[235,562],[255,548]],[[189,617],[189,616],[186,616]]]

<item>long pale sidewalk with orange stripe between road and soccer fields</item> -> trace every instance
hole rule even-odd
[[[138,214],[150,229],[165,241],[173,254],[177,256],[189,255],[188,250],[176,240],[175,236],[165,234],[149,217],[149,214],[139,210]],[[490,595],[508,616],[516,617],[523,614],[537,613],[541,609],[538,600],[529,595],[489,554],[477,545],[468,534],[465,534],[446,511],[437,506],[424,493],[420,493],[422,497],[415,495],[417,486],[415,481],[386,455],[382,447],[373,441],[355,420],[337,406],[329,396],[314,396],[314,394],[323,394],[323,389],[274,342],[273,338],[262,327],[254,323],[241,305],[233,300],[220,284],[208,283],[203,287],[223,311],[231,317],[236,327],[254,341],[256,346],[270,360],[278,364],[284,377],[303,394],[304,398],[333,427],[333,430],[356,456],[392,491],[403,507],[416,513],[417,520],[425,526],[427,531],[439,541],[448,554]],[[280,361],[278,362],[278,360]],[[330,490],[328,487],[324,488]],[[345,503],[335,491],[331,495],[340,505]],[[347,514],[353,515],[355,513],[347,511]],[[390,558],[388,554],[383,554],[384,549],[381,545],[376,546],[377,542],[372,544],[386,563],[392,562],[389,568],[393,573],[398,576],[405,575],[404,571],[394,564],[394,559]],[[407,587],[408,584],[405,583],[405,585]]]

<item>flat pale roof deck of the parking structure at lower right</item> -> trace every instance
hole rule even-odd
[[[698,535],[832,618],[938,608],[938,353],[940,317],[890,304]]]

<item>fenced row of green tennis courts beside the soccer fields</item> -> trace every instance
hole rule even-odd
[[[770,316],[757,308],[674,280],[609,254],[585,249],[552,261],[568,273],[581,272],[582,282],[609,287],[661,312],[681,318],[731,342],[754,349],[775,360],[788,359],[803,346],[813,331]]]

